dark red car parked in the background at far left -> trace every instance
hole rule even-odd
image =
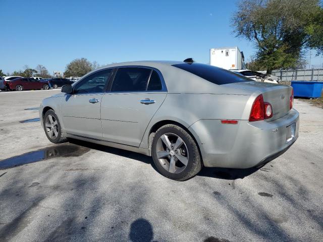
[[[10,90],[22,91],[30,89],[44,89],[49,88],[48,82],[40,82],[33,78],[17,78],[10,82],[6,82],[9,85]]]

